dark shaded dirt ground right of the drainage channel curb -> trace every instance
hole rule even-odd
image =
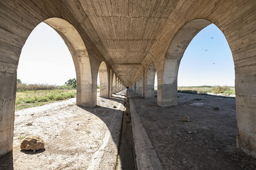
[[[163,169],[256,169],[236,148],[235,98],[179,93],[178,105],[166,108],[156,97],[132,99]]]

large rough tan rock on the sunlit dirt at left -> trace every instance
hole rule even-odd
[[[44,149],[44,141],[39,137],[26,137],[20,145],[21,150]]]

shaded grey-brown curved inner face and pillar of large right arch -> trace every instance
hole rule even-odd
[[[211,22],[204,19],[192,20],[180,28],[172,39],[164,60],[162,85],[158,86],[158,91],[162,91],[158,93],[158,105],[177,105],[177,73],[181,58],[193,37],[209,24]]]

